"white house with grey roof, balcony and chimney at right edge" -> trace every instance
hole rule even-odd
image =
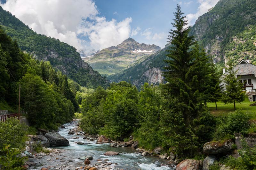
[[[240,77],[239,81],[243,84],[243,89],[246,91],[250,101],[256,101],[256,66],[251,64],[249,60],[241,60],[233,69],[236,71],[236,76]],[[223,75],[226,73],[223,69]]]

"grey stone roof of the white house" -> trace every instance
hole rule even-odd
[[[234,66],[234,70],[237,71],[236,73],[237,76],[254,75],[254,77],[256,77],[256,66],[251,63],[236,64]]]

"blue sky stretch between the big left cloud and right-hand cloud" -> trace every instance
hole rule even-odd
[[[173,0],[96,0],[96,6],[100,12],[100,16],[106,17],[107,20],[112,18],[118,22],[124,18],[132,18],[131,29],[136,30],[140,28],[137,35],[130,36],[136,41],[147,44],[155,43],[160,45],[161,48],[166,44],[166,38],[169,29],[172,28],[171,22],[173,19],[173,12],[176,5],[180,4],[182,11],[186,14],[195,13],[199,7],[198,1],[173,1]],[[193,20],[194,23],[194,20]],[[152,32],[152,36],[157,33],[164,33],[164,39],[150,40],[150,37],[146,37],[143,34],[145,30]],[[144,32],[145,33],[145,32]]]

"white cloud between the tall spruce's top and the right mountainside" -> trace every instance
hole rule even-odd
[[[188,24],[194,25],[196,19],[200,17],[202,14],[206,13],[210,8],[214,7],[219,0],[197,0],[198,3],[200,4],[199,7],[197,8],[196,13],[188,14],[187,19],[188,19]]]

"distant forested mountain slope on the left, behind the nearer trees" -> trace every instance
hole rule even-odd
[[[76,48],[58,39],[35,33],[10,12],[4,11],[1,6],[0,25],[13,40],[17,41],[21,50],[38,60],[49,61],[53,67],[80,85],[94,88],[108,85],[106,78],[82,61]]]

